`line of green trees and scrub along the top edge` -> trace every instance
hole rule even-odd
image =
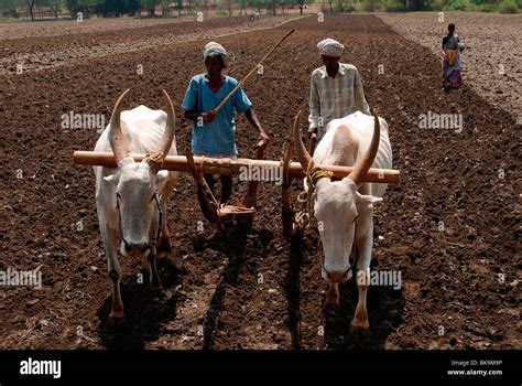
[[[522,0],[0,0],[0,12],[4,18],[18,18],[29,14],[35,20],[36,14],[58,19],[67,12],[73,19],[78,14],[83,18],[99,15],[117,18],[122,15],[141,15],[143,11],[149,17],[171,15],[171,12],[192,14],[195,11],[207,12],[211,8],[226,15],[232,15],[233,10],[247,14],[248,10],[276,14],[281,9],[298,8],[301,13],[307,4],[316,3],[327,12],[373,12],[373,11],[427,11],[427,10],[461,10],[516,13],[522,8]],[[217,4],[217,6],[216,6]]]

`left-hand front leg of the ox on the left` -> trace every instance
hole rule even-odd
[[[112,281],[112,307],[109,317],[120,320],[123,318],[123,301],[120,292],[121,267],[118,261],[116,232],[105,225],[101,227],[101,238],[105,244],[109,277]]]

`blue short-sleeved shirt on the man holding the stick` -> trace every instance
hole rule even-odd
[[[238,85],[238,81],[225,76],[221,88],[214,94],[205,82],[205,74],[199,74],[191,79],[183,108],[208,112],[214,110],[221,100]],[[238,114],[247,111],[252,106],[244,92],[239,88],[236,94],[219,110],[213,122],[197,121],[193,125],[192,152],[194,154],[238,154],[236,147],[236,122],[233,110]]]

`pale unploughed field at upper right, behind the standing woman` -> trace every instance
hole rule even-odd
[[[441,55],[442,36],[455,23],[466,44],[463,53],[464,82],[522,125],[522,14],[445,12],[379,13],[404,37]],[[414,58],[412,58],[414,60]]]

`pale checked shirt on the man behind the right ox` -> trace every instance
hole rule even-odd
[[[339,63],[335,78],[328,76],[326,66],[314,69],[309,87],[308,122],[317,128],[318,139],[325,135],[330,120],[356,111],[370,115],[356,66]]]

